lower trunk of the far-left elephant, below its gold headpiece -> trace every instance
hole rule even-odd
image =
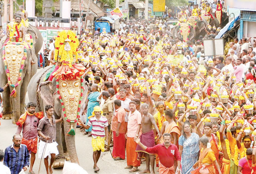
[[[10,87],[10,90],[12,91],[14,88]],[[14,121],[15,123],[20,118],[20,85],[18,85],[16,88],[16,97],[12,97],[12,104],[13,104],[13,115],[14,115]]]

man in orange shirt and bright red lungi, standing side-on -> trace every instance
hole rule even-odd
[[[115,113],[111,121],[111,130],[113,132],[113,158],[114,160],[125,159],[125,110],[121,107],[121,100],[114,100]]]

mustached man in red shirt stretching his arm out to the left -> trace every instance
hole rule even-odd
[[[140,142],[140,138],[135,137],[134,141],[141,146],[143,150],[149,153],[155,153],[159,156],[159,174],[174,174],[174,160],[177,161],[177,171],[180,174],[181,157],[176,145],[171,143],[171,134],[163,134],[162,144],[157,144],[154,147],[147,147]]]

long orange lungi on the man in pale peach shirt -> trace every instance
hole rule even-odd
[[[141,162],[137,160],[137,152],[135,152],[137,143],[133,140],[134,137],[127,137],[126,142],[126,157],[127,157],[127,166],[138,167],[141,165]]]

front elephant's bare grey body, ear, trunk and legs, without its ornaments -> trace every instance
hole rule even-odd
[[[45,76],[51,71],[52,66],[47,69],[38,71],[28,84],[28,97],[30,102],[37,103],[36,112],[44,111],[44,107],[48,104],[54,106],[55,119],[64,118],[64,111],[60,101],[60,94],[56,92],[56,79],[45,81]],[[37,82],[37,83],[36,83]],[[87,84],[83,82],[84,94],[87,93]],[[74,89],[74,88],[72,88]],[[84,95],[86,96],[86,95]],[[80,97],[80,95],[79,95]],[[85,98],[82,99],[82,103]],[[69,103],[70,105],[72,103]],[[74,111],[75,112],[75,111]],[[63,120],[62,123],[56,123],[56,142],[58,143],[59,154],[53,163],[53,168],[63,168],[64,160],[70,158],[71,162],[78,163],[78,157],[75,149],[75,136],[67,136],[66,133],[70,129],[70,123]],[[76,124],[73,124],[76,127]]]

